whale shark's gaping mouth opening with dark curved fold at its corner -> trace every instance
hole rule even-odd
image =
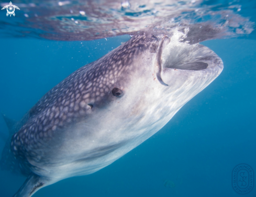
[[[162,78],[167,69],[202,71],[218,65],[216,63],[219,62],[218,55],[209,48],[198,43],[181,42],[179,38],[180,36],[161,38],[154,69],[159,82],[164,86],[168,86]]]

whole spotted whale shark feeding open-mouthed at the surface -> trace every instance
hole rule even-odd
[[[81,67],[16,126],[8,121],[18,131],[5,147],[11,151],[4,151],[2,167],[9,164],[28,176],[14,196],[31,196],[112,164],[159,131],[222,69],[207,47],[152,34],[133,36]]]

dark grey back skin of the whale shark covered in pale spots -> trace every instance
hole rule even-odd
[[[125,91],[124,84],[129,83],[132,78],[129,73],[135,69],[131,66],[134,56],[144,50],[155,53],[158,40],[152,36],[134,37],[102,59],[81,67],[52,88],[30,109],[30,119],[13,136],[11,149],[14,155],[40,164],[54,165],[56,161],[52,157],[59,157],[58,164],[65,162],[62,154],[52,152],[52,147],[59,148],[63,143],[62,138],[58,142],[54,140],[57,135],[62,135],[70,125],[84,121],[94,111],[109,107],[109,102],[118,100],[112,90],[118,87]],[[51,147],[49,151],[46,151],[46,144]]]

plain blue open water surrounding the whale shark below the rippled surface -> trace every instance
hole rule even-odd
[[[0,39],[0,111],[19,120],[70,73],[128,39]],[[244,163],[256,173],[256,40],[202,44],[221,57],[224,71],[162,130],[112,165],[62,180],[34,196],[240,196],[232,189],[233,168]],[[0,133],[2,151],[8,136],[2,118]],[[0,171],[0,196],[12,196],[24,181]],[[256,196],[256,187],[245,196]]]

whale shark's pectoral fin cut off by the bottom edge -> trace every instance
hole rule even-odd
[[[30,173],[23,186],[14,194],[13,197],[30,197],[39,189],[48,186],[49,179],[40,177],[35,173]]]

